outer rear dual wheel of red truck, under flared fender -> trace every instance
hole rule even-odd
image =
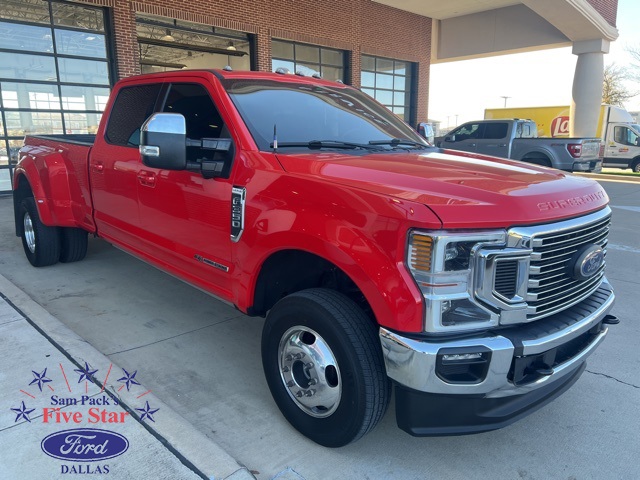
[[[20,236],[29,263],[34,267],[54,265],[60,258],[60,229],[40,221],[36,202],[27,197],[20,203]]]

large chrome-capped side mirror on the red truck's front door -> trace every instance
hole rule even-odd
[[[154,113],[140,132],[142,163],[152,168],[187,168],[187,123],[179,113]]]

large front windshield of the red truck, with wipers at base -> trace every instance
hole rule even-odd
[[[411,127],[353,88],[255,79],[222,83],[260,150],[271,150],[274,137],[279,147],[428,147]]]

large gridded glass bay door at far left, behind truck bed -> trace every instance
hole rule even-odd
[[[25,135],[95,133],[112,84],[105,10],[43,0],[0,9],[0,191]]]

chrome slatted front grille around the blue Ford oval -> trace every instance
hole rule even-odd
[[[576,253],[587,245],[599,245],[606,255],[610,224],[611,213],[607,208],[587,218],[548,225],[547,229],[544,226],[530,232],[514,229],[518,235],[530,233],[529,245],[533,250],[526,296],[528,321],[564,310],[598,288],[604,277],[604,264],[586,280],[573,278],[573,264]]]

